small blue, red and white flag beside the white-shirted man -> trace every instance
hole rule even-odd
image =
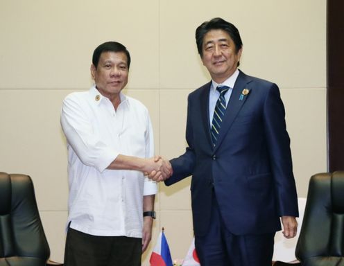
[[[150,266],[173,266],[169,244],[164,234],[164,229],[157,239],[157,245],[150,255]]]

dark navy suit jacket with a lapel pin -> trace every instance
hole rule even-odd
[[[173,175],[165,184],[192,175],[195,236],[205,235],[209,228],[212,193],[230,232],[244,235],[279,231],[280,216],[298,217],[290,139],[279,89],[240,72],[214,147],[209,125],[210,85],[189,94],[189,147],[171,160]],[[243,89],[249,93],[241,96]]]

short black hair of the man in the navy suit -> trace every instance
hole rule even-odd
[[[215,17],[214,19],[203,22],[203,24],[200,24],[196,28],[196,44],[200,57],[203,57],[203,39],[209,30],[225,30],[233,39],[236,53],[243,47],[243,42],[241,41],[240,33],[236,26],[225,21],[225,19],[221,19],[221,17]]]

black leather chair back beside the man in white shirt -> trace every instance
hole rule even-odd
[[[31,178],[0,172],[0,266],[45,265],[49,255]]]

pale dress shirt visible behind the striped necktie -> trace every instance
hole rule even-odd
[[[225,100],[226,100],[226,107],[228,104],[228,101],[230,100],[230,96],[232,95],[232,91],[234,88],[234,84],[236,82],[236,78],[239,76],[239,70],[236,69],[232,76],[230,78],[227,78],[223,83],[218,84],[214,80],[212,80],[212,85],[210,86],[210,94],[209,94],[209,122],[210,122],[210,127],[212,127],[212,121],[213,121],[213,116],[214,116],[214,110],[215,110],[215,105],[218,100],[218,97],[220,97],[220,93],[216,89],[218,86],[227,86],[230,87],[228,91],[225,93]]]

